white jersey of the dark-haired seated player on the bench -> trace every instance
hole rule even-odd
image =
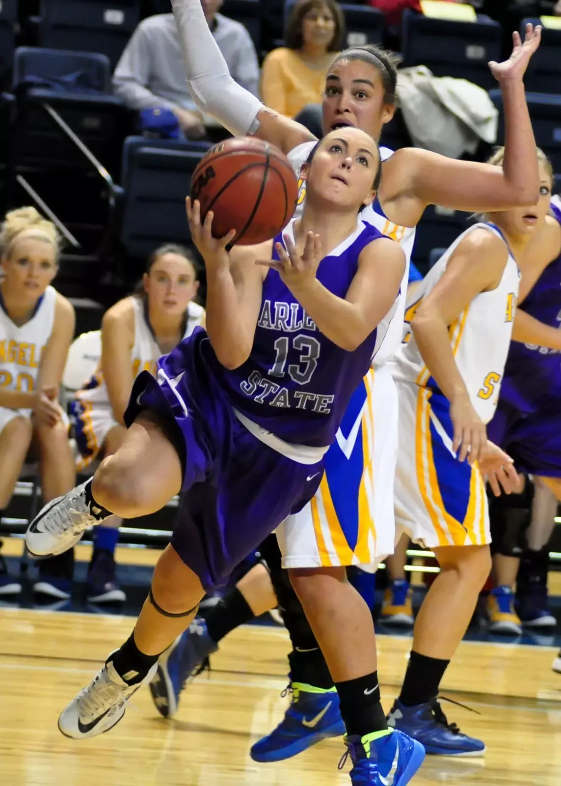
[[[130,352],[130,362],[133,369],[133,377],[136,379],[141,371],[149,371],[154,375],[156,374],[156,363],[162,357],[162,351],[159,349],[152,330],[146,321],[143,301],[136,296],[132,296],[130,299],[134,308],[134,345]],[[190,336],[196,326],[200,325],[203,314],[203,307],[197,303],[189,303],[187,325],[185,326],[183,338]],[[76,398],[79,401],[109,405],[109,395],[101,365],[83,389],[76,393]]]

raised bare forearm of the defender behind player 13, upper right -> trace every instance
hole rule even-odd
[[[504,107],[504,181],[512,204],[536,204],[540,198],[540,173],[536,140],[526,104],[522,79],[501,83]]]

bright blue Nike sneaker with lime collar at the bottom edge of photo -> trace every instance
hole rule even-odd
[[[424,761],[420,742],[392,729],[363,737],[346,736],[345,744],[347,753],[339,762],[339,769],[350,756],[353,786],[405,786]]]

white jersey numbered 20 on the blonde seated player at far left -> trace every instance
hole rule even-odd
[[[41,354],[53,332],[56,305],[57,290],[47,287],[35,314],[19,326],[0,308],[0,387],[35,390]]]

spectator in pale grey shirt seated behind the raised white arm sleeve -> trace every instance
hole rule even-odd
[[[259,63],[248,31],[240,22],[217,13],[222,0],[201,3],[230,73],[256,95]],[[113,90],[131,109],[170,110],[187,138],[205,136],[204,119],[185,83],[185,66],[172,13],[141,21],[117,64]]]

